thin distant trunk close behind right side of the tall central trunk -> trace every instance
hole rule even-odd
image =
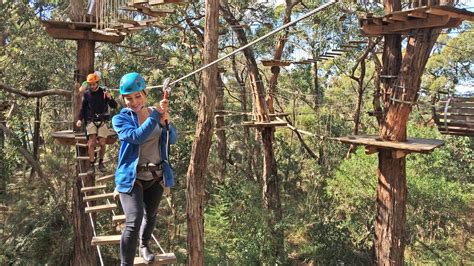
[[[222,79],[217,80],[217,98],[216,98],[216,109],[217,110],[224,110],[224,82]],[[216,128],[220,130],[216,130],[217,136],[217,154],[221,163],[219,164],[219,177],[218,181],[220,184],[224,183],[226,170],[227,170],[227,139],[225,130],[223,127],[225,126],[224,123],[224,116],[220,116],[216,118]]]

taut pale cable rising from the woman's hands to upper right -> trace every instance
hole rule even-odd
[[[231,53],[229,53],[229,54],[227,54],[227,55],[225,55],[225,56],[223,56],[223,57],[221,57],[221,58],[218,58],[218,59],[214,60],[213,62],[211,62],[211,63],[209,63],[209,64],[207,64],[207,65],[205,65],[205,66],[202,66],[202,67],[200,67],[200,68],[194,70],[193,72],[191,72],[191,73],[189,73],[189,74],[187,74],[187,75],[185,75],[185,76],[183,76],[183,77],[181,77],[181,78],[179,78],[179,79],[177,79],[177,80],[175,80],[175,81],[170,82],[169,86],[171,87],[171,86],[173,86],[174,84],[176,84],[176,83],[178,83],[178,82],[180,82],[180,81],[182,81],[182,80],[184,80],[184,79],[186,79],[186,78],[188,78],[188,77],[190,77],[190,76],[193,76],[194,74],[197,74],[197,73],[203,71],[204,69],[206,69],[206,68],[208,68],[208,67],[211,67],[211,66],[213,66],[213,65],[215,65],[215,64],[217,64],[217,63],[223,61],[223,60],[226,59],[226,58],[229,58],[229,57],[235,55],[236,53],[238,53],[238,52],[240,52],[240,51],[243,51],[243,50],[247,49],[248,47],[250,47],[250,46],[252,46],[252,45],[254,45],[254,44],[258,43],[258,42],[261,42],[262,40],[264,40],[264,39],[266,39],[266,38],[268,38],[268,37],[274,35],[275,33],[277,33],[277,32],[279,32],[279,31],[281,31],[281,30],[284,30],[284,29],[286,29],[286,28],[288,28],[288,27],[294,25],[294,24],[300,22],[301,20],[304,20],[304,19],[306,19],[306,18],[308,18],[308,17],[310,17],[310,16],[312,16],[312,15],[318,13],[319,11],[321,11],[321,10],[323,10],[323,9],[326,9],[327,7],[332,6],[333,4],[337,3],[337,1],[338,1],[338,0],[333,0],[333,1],[329,2],[329,3],[326,3],[326,4],[320,6],[320,7],[316,8],[316,9],[314,9],[314,10],[312,10],[312,11],[306,13],[305,15],[303,15],[302,17],[300,17],[300,18],[298,18],[298,19],[296,19],[296,20],[294,20],[294,21],[291,21],[291,22],[288,22],[288,23],[286,23],[286,24],[283,24],[283,25],[280,26],[279,28],[276,28],[275,30],[273,30],[273,31],[271,31],[271,32],[269,32],[269,33],[263,35],[263,36],[260,37],[260,38],[257,38],[256,40],[254,40],[254,41],[252,41],[252,42],[250,42],[250,43],[248,43],[248,44],[246,44],[246,45],[240,47],[239,49],[237,49],[237,50],[235,50],[235,51],[233,51],[233,52],[231,52]],[[163,87],[163,85],[149,86],[149,87],[147,87],[147,89],[155,89],[155,88],[162,88],[162,87]]]

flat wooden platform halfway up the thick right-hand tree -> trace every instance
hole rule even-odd
[[[344,143],[368,145],[378,148],[405,150],[410,152],[431,152],[444,144],[442,140],[408,138],[406,142],[387,141],[376,135],[355,135],[335,138]]]

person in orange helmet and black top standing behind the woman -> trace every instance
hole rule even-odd
[[[95,147],[99,141],[99,170],[105,172],[104,155],[105,144],[109,134],[107,122],[110,120],[108,107],[117,108],[117,102],[112,98],[110,93],[99,86],[100,76],[92,73],[87,76],[87,88],[82,98],[81,110],[76,122],[76,126],[82,126],[82,120],[86,122],[86,133],[88,136],[88,152],[90,171],[95,172]]]

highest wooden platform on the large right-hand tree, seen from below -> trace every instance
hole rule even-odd
[[[371,14],[359,18],[359,24],[367,36],[408,34],[424,28],[454,28],[463,20],[474,20],[474,12],[450,6],[423,6],[392,12],[382,17]]]

